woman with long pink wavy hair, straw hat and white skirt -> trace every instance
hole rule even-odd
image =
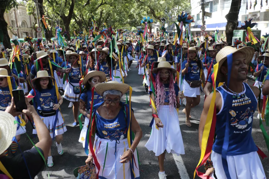
[[[150,90],[151,99],[156,106],[156,108],[151,106],[155,122],[153,122],[151,136],[145,147],[158,156],[160,168],[158,176],[164,179],[166,178],[165,150],[177,155],[185,154],[185,152],[176,110],[180,107],[179,88],[173,79],[176,70],[171,68],[170,63],[166,62],[164,57],[160,58],[163,58],[163,61],[158,62],[158,67],[152,70],[152,73],[156,74],[155,94],[152,88]]]

